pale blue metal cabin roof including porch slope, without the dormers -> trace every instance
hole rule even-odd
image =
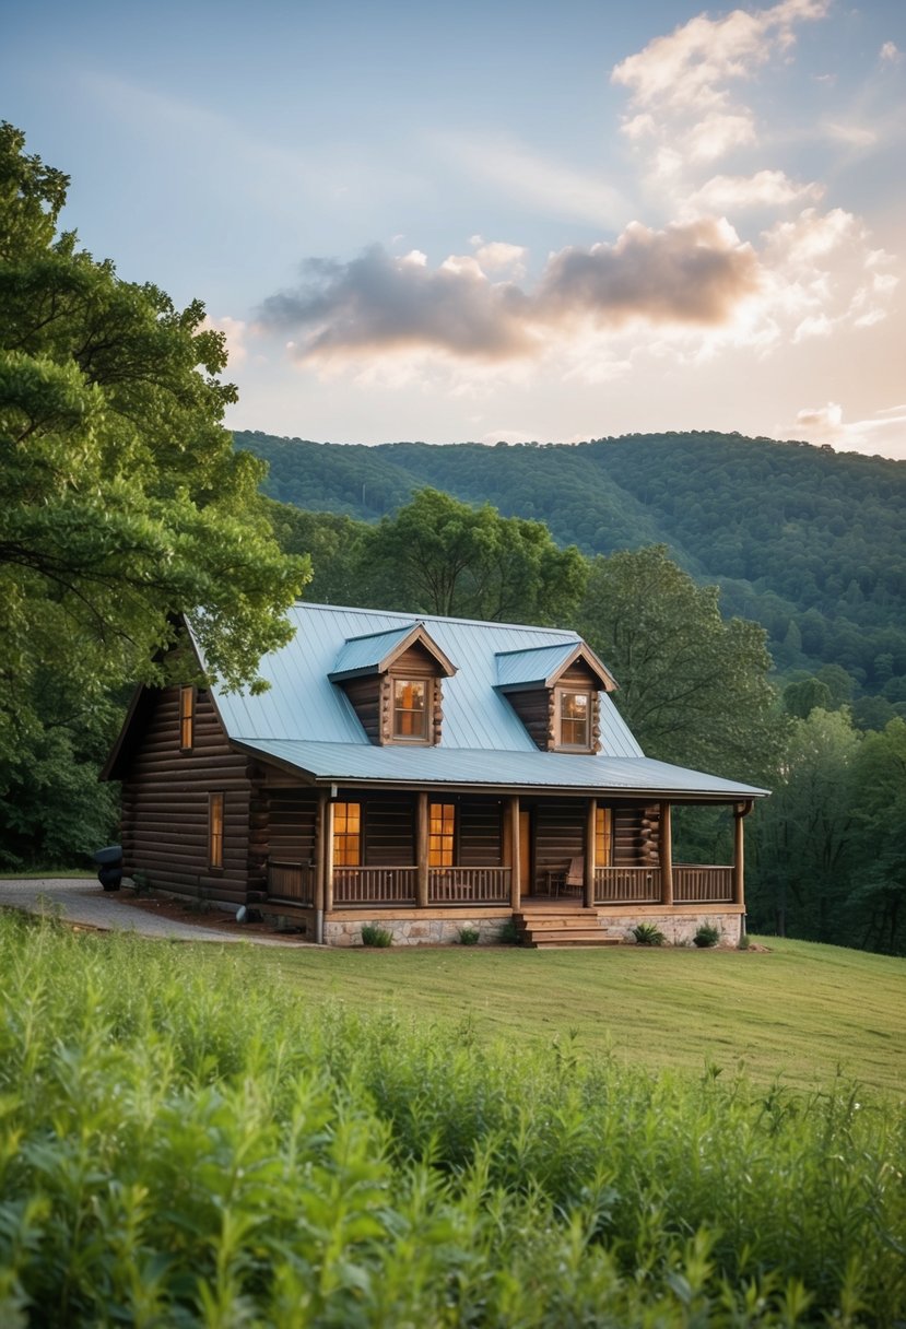
[[[296,633],[259,666],[271,687],[217,695],[227,735],[262,756],[290,763],[316,780],[460,783],[507,787],[644,788],[751,797],[749,785],[731,784],[700,772],[644,759],[619,711],[600,692],[600,748],[592,755],[541,752],[497,690],[498,657],[538,653],[565,659],[582,639],[571,631],[488,623],[389,610],[296,605],[290,611]],[[372,746],[343,687],[328,678],[340,659],[373,658],[424,623],[430,639],[456,663],[444,679],[444,727],[437,747]],[[364,638],[371,635],[371,646]],[[359,654],[361,653],[361,654]],[[384,651],[387,654],[387,651]],[[639,766],[643,763],[643,767]],[[687,779],[685,785],[676,784]],[[658,785],[660,788],[660,785]]]

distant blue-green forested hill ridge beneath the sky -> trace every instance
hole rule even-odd
[[[587,554],[666,544],[721,586],[728,611],[768,627],[778,667],[836,663],[857,695],[906,702],[906,462],[703,432],[575,445],[236,443],[270,462],[267,492],[300,508],[373,521],[432,485],[545,521]]]

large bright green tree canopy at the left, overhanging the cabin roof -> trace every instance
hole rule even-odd
[[[68,179],[0,126],[0,726],[39,668],[84,695],[151,678],[185,614],[211,672],[254,680],[287,639],[303,560],[271,537],[260,462],[222,425],[223,339],[205,310],[57,233]],[[0,736],[0,743],[3,738]]]

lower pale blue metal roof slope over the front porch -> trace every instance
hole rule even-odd
[[[361,743],[235,736],[240,747],[295,767],[317,781],[393,785],[484,785],[590,793],[646,793],[753,799],[768,793],[749,784],[650,758],[585,756],[574,752],[489,752],[485,748],[395,748]]]

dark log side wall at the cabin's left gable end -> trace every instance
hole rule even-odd
[[[246,901],[254,763],[231,751],[205,691],[191,751],[179,750],[179,688],[149,694],[122,784],[125,869],[195,900]],[[223,792],[223,868],[209,865],[209,793]],[[260,805],[256,807],[260,817]]]

